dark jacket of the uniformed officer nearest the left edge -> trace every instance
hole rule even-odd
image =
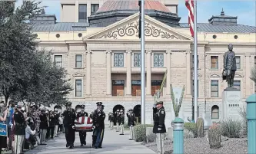
[[[25,117],[22,112],[15,111],[14,113],[14,121],[15,121],[15,135],[25,135]]]

